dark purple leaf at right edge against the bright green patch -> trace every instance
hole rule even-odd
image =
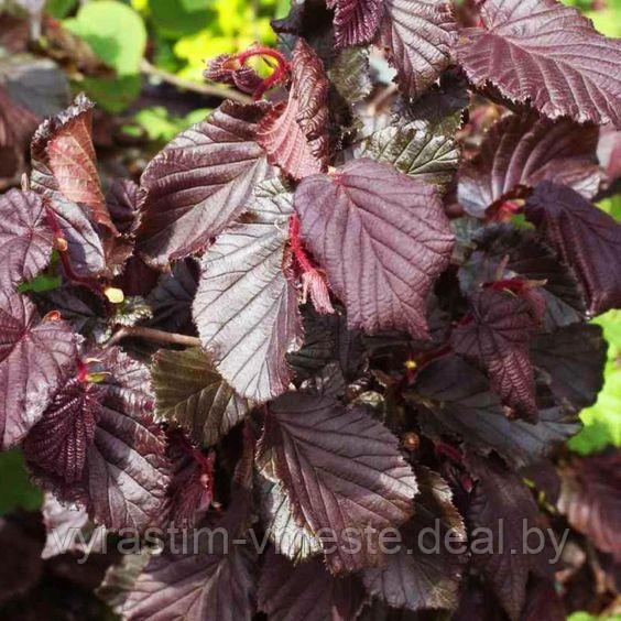
[[[538,335],[531,342],[531,360],[557,401],[579,412],[592,405],[601,390],[606,350],[599,326],[574,324]]]

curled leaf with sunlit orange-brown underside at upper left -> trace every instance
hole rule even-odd
[[[97,173],[92,146],[92,101],[78,95],[73,106],[45,120],[32,139],[33,189],[59,192],[86,205],[94,219],[116,233]]]

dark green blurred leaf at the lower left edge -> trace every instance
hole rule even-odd
[[[0,453],[0,515],[17,508],[36,511],[43,503],[43,492],[30,482],[22,451]]]

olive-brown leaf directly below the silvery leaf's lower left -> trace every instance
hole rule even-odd
[[[182,425],[200,445],[214,445],[249,410],[199,348],[161,349],[152,368],[156,415]]]

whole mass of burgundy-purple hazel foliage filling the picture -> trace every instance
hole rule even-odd
[[[621,225],[591,203],[618,181],[621,43],[555,0],[471,4],[295,3],[282,50],[207,67],[255,101],[140,184],[103,187],[85,96],[36,130],[0,198],[0,447],[46,491],[44,554],[87,523],[237,544],[145,543],[100,589],[127,619],[563,619],[524,524],[621,558],[619,453],[560,482],[548,459],[602,386],[588,320],[621,307]],[[372,118],[369,45],[399,89]]]

